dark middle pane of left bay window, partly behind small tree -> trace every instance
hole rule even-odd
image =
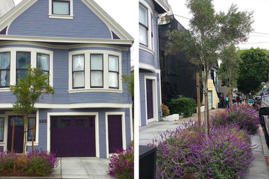
[[[17,82],[19,78],[26,78],[30,67],[30,52],[17,52]]]

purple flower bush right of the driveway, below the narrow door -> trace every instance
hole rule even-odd
[[[110,158],[108,175],[115,178],[134,178],[134,150],[117,151]]]

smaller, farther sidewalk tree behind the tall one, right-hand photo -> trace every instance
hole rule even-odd
[[[241,62],[239,52],[234,44],[224,48],[221,52],[221,66],[218,74],[221,82],[229,88],[229,103],[232,104],[232,87],[237,86],[237,73]],[[232,109],[232,105],[230,105]]]

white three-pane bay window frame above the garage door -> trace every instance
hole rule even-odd
[[[73,89],[72,88],[72,56],[76,54],[84,54],[84,72],[85,72],[85,82],[84,88]],[[90,87],[90,54],[103,54],[103,87]],[[108,56],[118,56],[119,57],[119,89],[110,88],[108,85]],[[122,79],[121,79],[121,53],[114,52],[110,50],[78,50],[69,52],[69,82],[68,82],[68,92],[115,92],[115,93],[123,93],[122,89]]]

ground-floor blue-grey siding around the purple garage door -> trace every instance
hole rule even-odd
[[[100,158],[106,158],[106,112],[125,112],[126,121],[126,145],[131,143],[131,125],[130,125],[130,109],[129,108],[97,108],[97,109],[39,109],[39,119],[48,120],[48,112],[98,112],[99,114],[99,151]],[[34,149],[47,149],[47,123],[39,123],[39,145],[35,145]],[[27,151],[31,151],[31,146],[27,147]]]

